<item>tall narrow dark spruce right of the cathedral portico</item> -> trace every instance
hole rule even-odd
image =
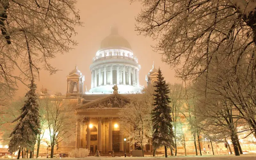
[[[162,71],[158,69],[157,83],[155,85],[155,102],[152,110],[153,123],[153,146],[154,149],[164,146],[165,157],[167,157],[167,147],[174,146],[172,138],[172,117],[171,108],[169,107],[170,92],[168,84],[166,84]]]

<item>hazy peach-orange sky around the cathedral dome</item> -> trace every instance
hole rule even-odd
[[[50,94],[55,92],[66,93],[67,79],[66,76],[71,72],[75,65],[85,76],[85,85],[87,91],[91,88],[91,71],[90,64],[95,56],[100,42],[110,34],[110,27],[116,25],[118,33],[128,40],[132,47],[133,54],[137,56],[141,65],[139,72],[140,85],[146,86],[145,75],[152,68],[153,61],[155,67],[162,69],[166,82],[180,83],[180,80],[174,77],[174,69],[170,69],[168,65],[161,62],[161,55],[152,51],[150,45],[154,45],[157,41],[153,41],[150,37],[138,36],[135,29],[135,16],[140,12],[140,3],[132,3],[128,0],[79,0],[77,9],[80,10],[80,18],[84,22],[84,27],[77,27],[77,35],[73,37],[79,44],[74,49],[64,55],[57,55],[51,60],[53,66],[59,68],[56,74],[50,76],[48,72],[40,71],[40,81],[36,81],[37,90],[40,92],[41,85],[48,90]],[[29,82],[26,82],[29,84]],[[27,86],[19,84],[17,97],[25,96]]]

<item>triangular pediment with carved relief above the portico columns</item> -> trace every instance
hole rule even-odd
[[[82,104],[77,109],[88,108],[124,108],[124,105],[130,102],[130,98],[122,94],[114,93],[108,96]]]

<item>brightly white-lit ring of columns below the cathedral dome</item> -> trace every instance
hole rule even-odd
[[[91,74],[91,88],[113,84],[139,86],[139,69],[132,65],[103,65],[93,68]]]

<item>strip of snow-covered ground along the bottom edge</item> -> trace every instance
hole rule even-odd
[[[49,160],[50,158],[40,158],[40,160]],[[52,158],[54,159],[59,159],[59,158]],[[165,157],[94,157],[90,156],[87,158],[61,158],[64,160],[155,160],[155,159],[172,159],[172,160],[255,160],[256,155],[241,155],[241,156],[235,156],[235,155],[223,155],[223,156],[180,156],[180,157],[171,157],[169,156],[168,158]],[[4,159],[3,159],[4,160]],[[8,159],[5,159],[8,160]],[[20,158],[22,160],[22,158]],[[35,160],[35,158],[29,159],[29,160]]]

